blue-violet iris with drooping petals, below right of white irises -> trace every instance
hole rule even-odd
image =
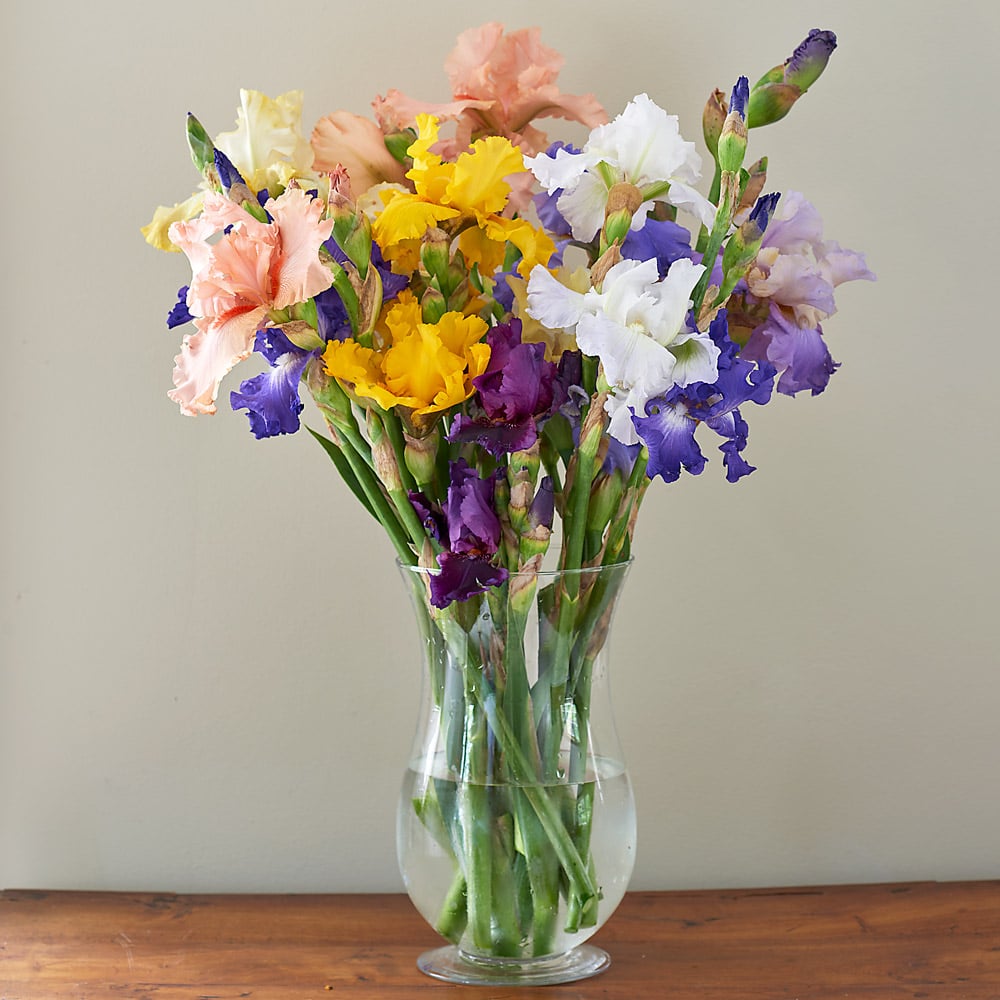
[[[766,403],[774,389],[776,369],[767,361],[755,364],[739,356],[739,348],[729,339],[725,310],[713,320],[709,334],[720,350],[717,381],[675,386],[651,399],[644,416],[632,417],[636,432],[649,449],[646,472],[650,479],[660,476],[672,483],[682,469],[696,476],[705,468],[705,456],[694,438],[699,423],[725,439],[719,450],[729,482],[754,471],[742,454],[748,427],[739,406]]]

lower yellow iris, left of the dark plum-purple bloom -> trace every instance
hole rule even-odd
[[[385,317],[390,342],[383,349],[357,341],[331,341],[323,354],[326,372],[351,383],[358,396],[388,410],[403,406],[415,417],[446,410],[468,399],[472,380],[486,370],[488,327],[478,316],[445,313],[424,323],[420,303],[407,292]]]

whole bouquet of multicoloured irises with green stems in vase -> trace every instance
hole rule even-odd
[[[536,30],[499,24],[459,37],[447,103],[392,90],[374,120],[338,111],[309,140],[299,92],[243,91],[236,129],[214,140],[188,117],[201,187],[144,230],[192,268],[168,317],[194,326],[169,395],[214,413],[222,379],[255,354],[262,371],[230,403],[257,438],[298,431],[313,398],[310,432],[399,561],[425,571],[436,703],[458,698],[449,717],[485,734],[475,753],[445,753],[445,772],[524,787],[565,776],[608,605],[577,571],[630,559],[647,488],[701,473],[699,437],[716,437],[736,482],[753,471],[747,405],[816,395],[837,368],[822,326],[834,289],[873,275],[747,157],[750,133],[788,113],[835,45],[811,31],[753,86],[709,97],[707,193],[676,117],[640,94],[609,121],[593,96],[559,90],[561,59]],[[589,134],[550,142],[539,117]],[[523,635],[549,564],[564,575],[538,602],[529,678]],[[457,694],[444,677],[456,663]],[[593,922],[590,812],[559,794],[470,806],[432,783],[415,798],[455,859],[444,933],[506,954],[528,928],[545,954],[560,897],[567,928]],[[500,861],[479,842],[498,839],[477,833],[483,813],[511,820]]]

